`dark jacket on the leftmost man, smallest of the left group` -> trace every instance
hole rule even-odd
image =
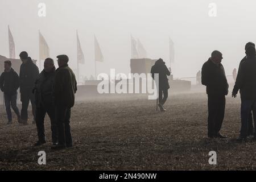
[[[19,88],[19,76],[11,68],[10,72],[3,72],[0,76],[0,88],[3,93],[13,96]]]

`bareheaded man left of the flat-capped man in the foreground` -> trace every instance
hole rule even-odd
[[[40,146],[46,143],[46,134],[44,133],[44,118],[46,113],[51,120],[52,143],[56,145],[57,138],[57,122],[56,112],[53,97],[53,84],[56,69],[53,59],[47,58],[44,61],[44,70],[40,73],[38,80],[36,80],[34,93],[36,104],[36,128],[38,130],[38,142],[35,146]]]

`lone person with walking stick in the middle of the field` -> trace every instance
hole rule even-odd
[[[152,77],[155,79],[154,74],[158,73],[159,74],[159,104],[158,106],[160,107],[161,111],[166,111],[164,109],[163,105],[166,103],[167,98],[168,98],[168,89],[170,89],[170,85],[168,82],[167,75],[170,76],[171,72],[170,70],[166,67],[166,63],[162,59],[159,59],[155,62],[155,65],[152,66],[151,68],[151,74]]]

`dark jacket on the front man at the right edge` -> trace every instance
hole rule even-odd
[[[233,94],[237,94],[238,89],[241,90],[242,100],[256,99],[256,58],[247,57],[241,63],[238,69],[236,86],[234,86]]]

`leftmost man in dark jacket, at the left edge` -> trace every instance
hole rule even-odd
[[[20,123],[20,114],[17,107],[17,90],[19,88],[19,76],[11,68],[11,61],[5,61],[5,72],[0,76],[0,88],[5,96],[5,107],[8,118],[8,125],[13,122],[11,115],[11,107],[17,115],[18,122]]]

